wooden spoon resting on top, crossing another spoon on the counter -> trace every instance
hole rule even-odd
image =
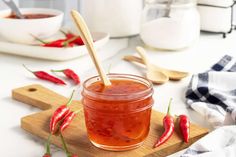
[[[156,71],[151,67],[150,62],[148,61],[148,58],[146,56],[145,50],[142,47],[136,47],[139,54],[142,56],[144,63],[147,67],[147,74],[146,77],[156,84],[163,84],[169,80],[169,77],[165,75],[163,72]]]

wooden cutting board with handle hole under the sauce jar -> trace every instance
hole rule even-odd
[[[49,135],[50,116],[58,106],[67,102],[66,97],[36,84],[14,89],[12,91],[12,98],[44,110],[21,119],[22,129],[43,139],[47,139]],[[82,104],[80,101],[73,101],[71,107],[77,110],[82,108]],[[165,144],[153,149],[152,146],[154,142],[163,132],[163,116],[163,113],[155,110],[152,111],[151,128],[147,139],[141,147],[130,151],[112,152],[93,146],[87,138],[83,110],[65,130],[64,136],[68,143],[69,150],[78,154],[80,157],[164,157],[188,147],[208,133],[207,129],[191,124],[190,141],[186,144],[182,142],[181,134],[178,131],[179,129],[176,128],[177,131]],[[60,138],[57,136],[52,137],[52,143],[62,147]]]

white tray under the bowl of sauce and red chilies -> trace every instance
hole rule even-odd
[[[54,37],[58,39],[61,36],[56,34]],[[94,32],[92,33],[93,39],[95,40],[94,46],[96,49],[105,45],[109,40],[107,33]],[[65,61],[74,58],[78,58],[87,54],[86,47],[74,46],[68,48],[54,48],[54,47],[42,47],[39,45],[24,45],[18,43],[11,43],[0,38],[0,52],[21,55],[33,58],[54,60],[54,61]]]

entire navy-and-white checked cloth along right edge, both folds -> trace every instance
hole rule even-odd
[[[218,128],[181,157],[236,157],[236,125],[232,125],[236,124],[236,60],[226,55],[210,70],[193,75],[186,99],[190,108]]]

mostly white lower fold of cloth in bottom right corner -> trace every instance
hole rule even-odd
[[[216,140],[217,139],[217,140]],[[180,157],[235,157],[236,126],[223,126],[191,145]]]

